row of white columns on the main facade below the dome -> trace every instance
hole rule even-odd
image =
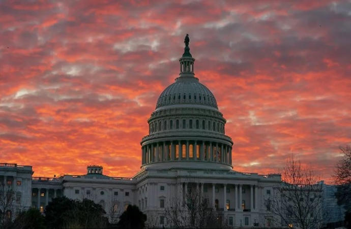
[[[200,193],[200,197],[203,197],[203,188],[205,183],[193,183],[193,182],[184,182],[184,183],[179,183],[178,184],[180,187],[180,191],[179,191],[179,195],[180,195],[180,199],[183,201],[185,200],[185,197],[187,196],[187,192],[188,192],[188,186],[192,185],[192,186],[196,186],[196,193]],[[243,190],[243,184],[216,184],[216,183],[211,183],[212,185],[212,205],[214,208],[219,208],[219,203],[218,205],[216,204],[216,186],[219,187],[223,187],[223,200],[222,200],[222,204],[223,204],[223,210],[224,211],[244,211],[244,210],[248,210],[248,206],[245,206],[245,204],[243,205],[243,194],[242,194],[242,190]],[[229,193],[227,193],[227,187],[228,186],[234,186],[235,187],[235,196],[234,196],[234,208],[230,208],[230,203],[228,205],[227,208],[227,198],[229,197]],[[184,186],[184,188],[183,188]],[[246,186],[246,185],[245,185]],[[248,184],[248,186],[250,186],[250,211],[252,210],[258,210],[259,206],[258,206],[258,186],[257,185],[253,185],[253,184]],[[239,190],[238,190],[239,189]],[[209,191],[209,190],[208,190]],[[238,199],[238,195],[239,195],[239,199]],[[218,200],[219,201],[219,200]],[[217,205],[217,206],[216,206]],[[222,206],[222,205],[221,205]]]

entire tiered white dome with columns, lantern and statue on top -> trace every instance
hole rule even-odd
[[[179,77],[160,94],[149,135],[140,142],[141,168],[230,171],[233,142],[225,135],[226,120],[213,93],[195,77],[188,35],[184,43]]]

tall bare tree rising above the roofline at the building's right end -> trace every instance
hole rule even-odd
[[[323,221],[321,183],[311,166],[303,166],[294,155],[286,160],[282,182],[274,187],[273,195],[265,200],[274,217],[273,226],[299,226],[315,229]],[[271,225],[272,226],[272,225]]]

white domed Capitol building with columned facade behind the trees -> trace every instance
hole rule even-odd
[[[160,94],[147,120],[149,135],[141,139],[141,166],[133,177],[109,177],[101,166],[87,166],[83,175],[35,177],[32,166],[0,163],[0,182],[15,190],[14,213],[37,208],[52,198],[89,198],[123,212],[136,205],[167,225],[165,209],[198,190],[220,211],[229,227],[270,226],[265,200],[281,182],[280,174],[242,173],[233,168],[233,141],[225,135],[226,120],[213,93],[195,77],[189,40],[179,59],[178,78]],[[146,120],[145,120],[146,121]],[[234,148],[235,149],[235,148]],[[92,161],[93,162],[93,161]]]

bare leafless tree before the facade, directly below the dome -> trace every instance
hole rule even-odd
[[[171,228],[222,228],[222,215],[195,189],[185,194],[184,200],[173,199],[165,210]]]

